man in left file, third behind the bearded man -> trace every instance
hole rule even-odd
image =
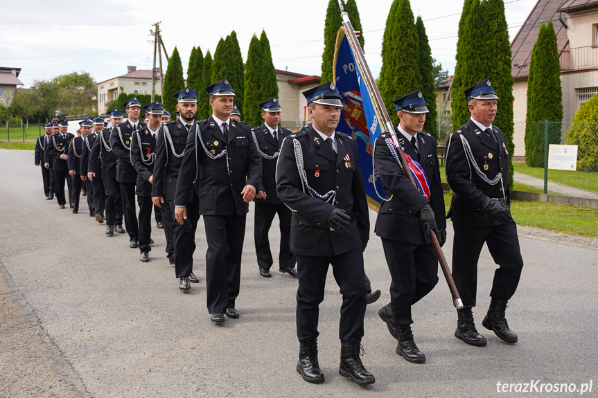
[[[94,146],[91,147],[89,170],[87,170],[87,177],[91,179],[91,183],[96,181],[96,184],[98,182],[102,184],[101,190],[105,196],[106,235],[114,235],[115,231],[116,233],[125,233],[121,190],[116,182],[116,156],[112,153],[112,145],[110,145],[112,129],[121,123],[121,120],[123,120],[123,111],[118,108],[112,109],[110,111],[111,125],[100,131]],[[100,189],[94,192],[100,192]],[[100,221],[98,217],[96,220]]]

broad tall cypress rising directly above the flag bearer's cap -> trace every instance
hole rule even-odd
[[[398,118],[392,101],[419,88],[418,58],[417,33],[409,0],[394,0],[382,41],[380,71],[380,95],[393,123],[398,123]]]

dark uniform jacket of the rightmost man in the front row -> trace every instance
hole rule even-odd
[[[487,197],[503,199],[510,203],[509,191],[509,152],[502,132],[492,126],[495,142],[480,130],[470,119],[454,132],[446,145],[446,180],[450,189],[455,192],[452,197],[448,217],[457,225],[463,226],[493,226],[500,224],[493,217],[486,214],[484,201]],[[499,172],[502,173],[502,183],[498,181],[490,185],[477,174],[473,164],[466,154],[465,138],[475,164],[480,172],[492,180]],[[485,170],[487,169],[487,170]]]

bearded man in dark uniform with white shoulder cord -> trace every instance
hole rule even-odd
[[[175,264],[175,278],[180,280],[179,289],[188,290],[191,289],[189,282],[200,281],[193,273],[195,230],[200,219],[200,203],[195,189],[189,194],[186,204],[187,218],[183,220],[183,224],[173,221],[179,170],[183,163],[187,138],[197,114],[197,91],[185,87],[175,94],[175,98],[177,109],[182,111],[182,117],[162,124],[159,129],[152,201],[161,207],[164,219],[168,220],[164,224],[166,246],[169,248],[168,259],[170,264]],[[195,183],[197,184],[197,181]]]

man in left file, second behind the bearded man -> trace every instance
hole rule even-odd
[[[121,188],[121,199],[123,200],[123,216],[125,217],[125,228],[129,234],[129,247],[139,246],[139,224],[137,224],[137,208],[135,207],[135,186],[137,183],[137,170],[131,163],[131,136],[137,129],[146,127],[146,124],[139,121],[141,114],[141,103],[133,97],[124,104],[128,120],[116,125],[112,129],[110,145],[112,152],[118,159],[116,167],[116,182]]]

